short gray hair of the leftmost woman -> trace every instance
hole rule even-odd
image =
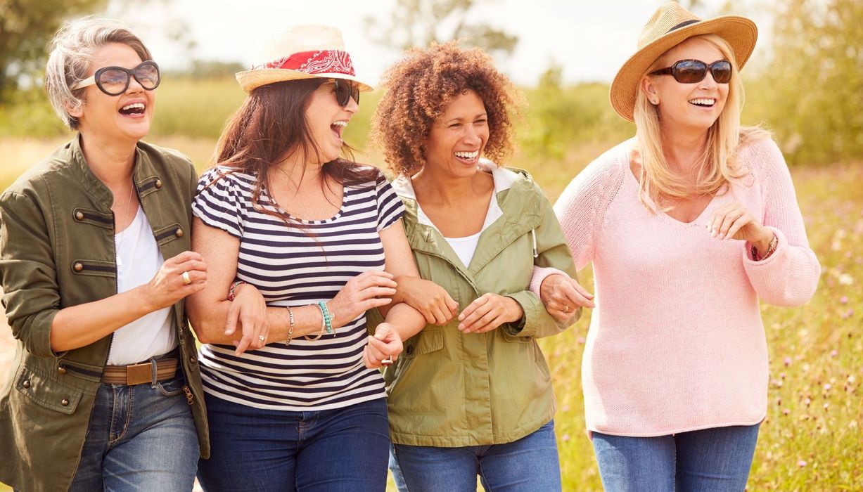
[[[131,47],[142,61],[153,60],[138,36],[114,19],[86,16],[66,22],[51,41],[45,67],[45,91],[57,116],[70,129],[78,129],[79,123],[78,118],[69,114],[69,108],[81,107],[85,91],[83,88],[72,91],[71,87],[87,78],[98,48],[112,42]]]

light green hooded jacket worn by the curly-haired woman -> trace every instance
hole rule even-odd
[[[410,181],[393,183],[405,203],[407,239],[424,279],[444,287],[459,312],[489,292],[513,298],[525,312],[519,324],[486,333],[464,335],[454,319],[426,325],[406,340],[397,363],[384,371],[396,444],[509,443],[554,417],[551,376],[536,338],[567,325],[551,318],[528,287],[534,265],[573,278],[575,266],[551,204],[530,175],[507,169],[494,169],[493,175],[502,216],[482,231],[467,268],[425,216],[418,217]],[[374,325],[380,320],[377,312],[369,319]]]

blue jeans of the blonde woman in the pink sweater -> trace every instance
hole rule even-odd
[[[608,492],[746,489],[759,425],[680,432],[655,438],[593,433],[602,487]]]

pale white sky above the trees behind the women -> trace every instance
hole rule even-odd
[[[376,84],[381,73],[400,53],[369,40],[363,19],[388,21],[395,0],[151,0],[142,3],[111,2],[108,15],[129,23],[162,66],[175,68],[191,57],[239,61],[250,66],[263,35],[293,23],[316,22],[341,29],[357,76]],[[513,55],[498,58],[501,70],[516,83],[535,85],[551,61],[564,68],[564,81],[610,82],[617,69],[633,54],[641,28],[660,0],[481,0],[470,19],[491,23],[518,35]],[[715,16],[724,0],[702,0],[695,9],[702,17]],[[753,65],[769,53],[770,0],[738,0],[741,11],[759,25],[760,39]],[[760,7],[760,8],[759,8]],[[197,46],[192,53],[167,41],[172,20],[188,23]]]

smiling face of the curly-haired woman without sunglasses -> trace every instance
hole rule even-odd
[[[425,139],[428,167],[454,177],[471,176],[488,142],[488,115],[482,98],[467,90],[452,98],[443,114],[431,124]]]

